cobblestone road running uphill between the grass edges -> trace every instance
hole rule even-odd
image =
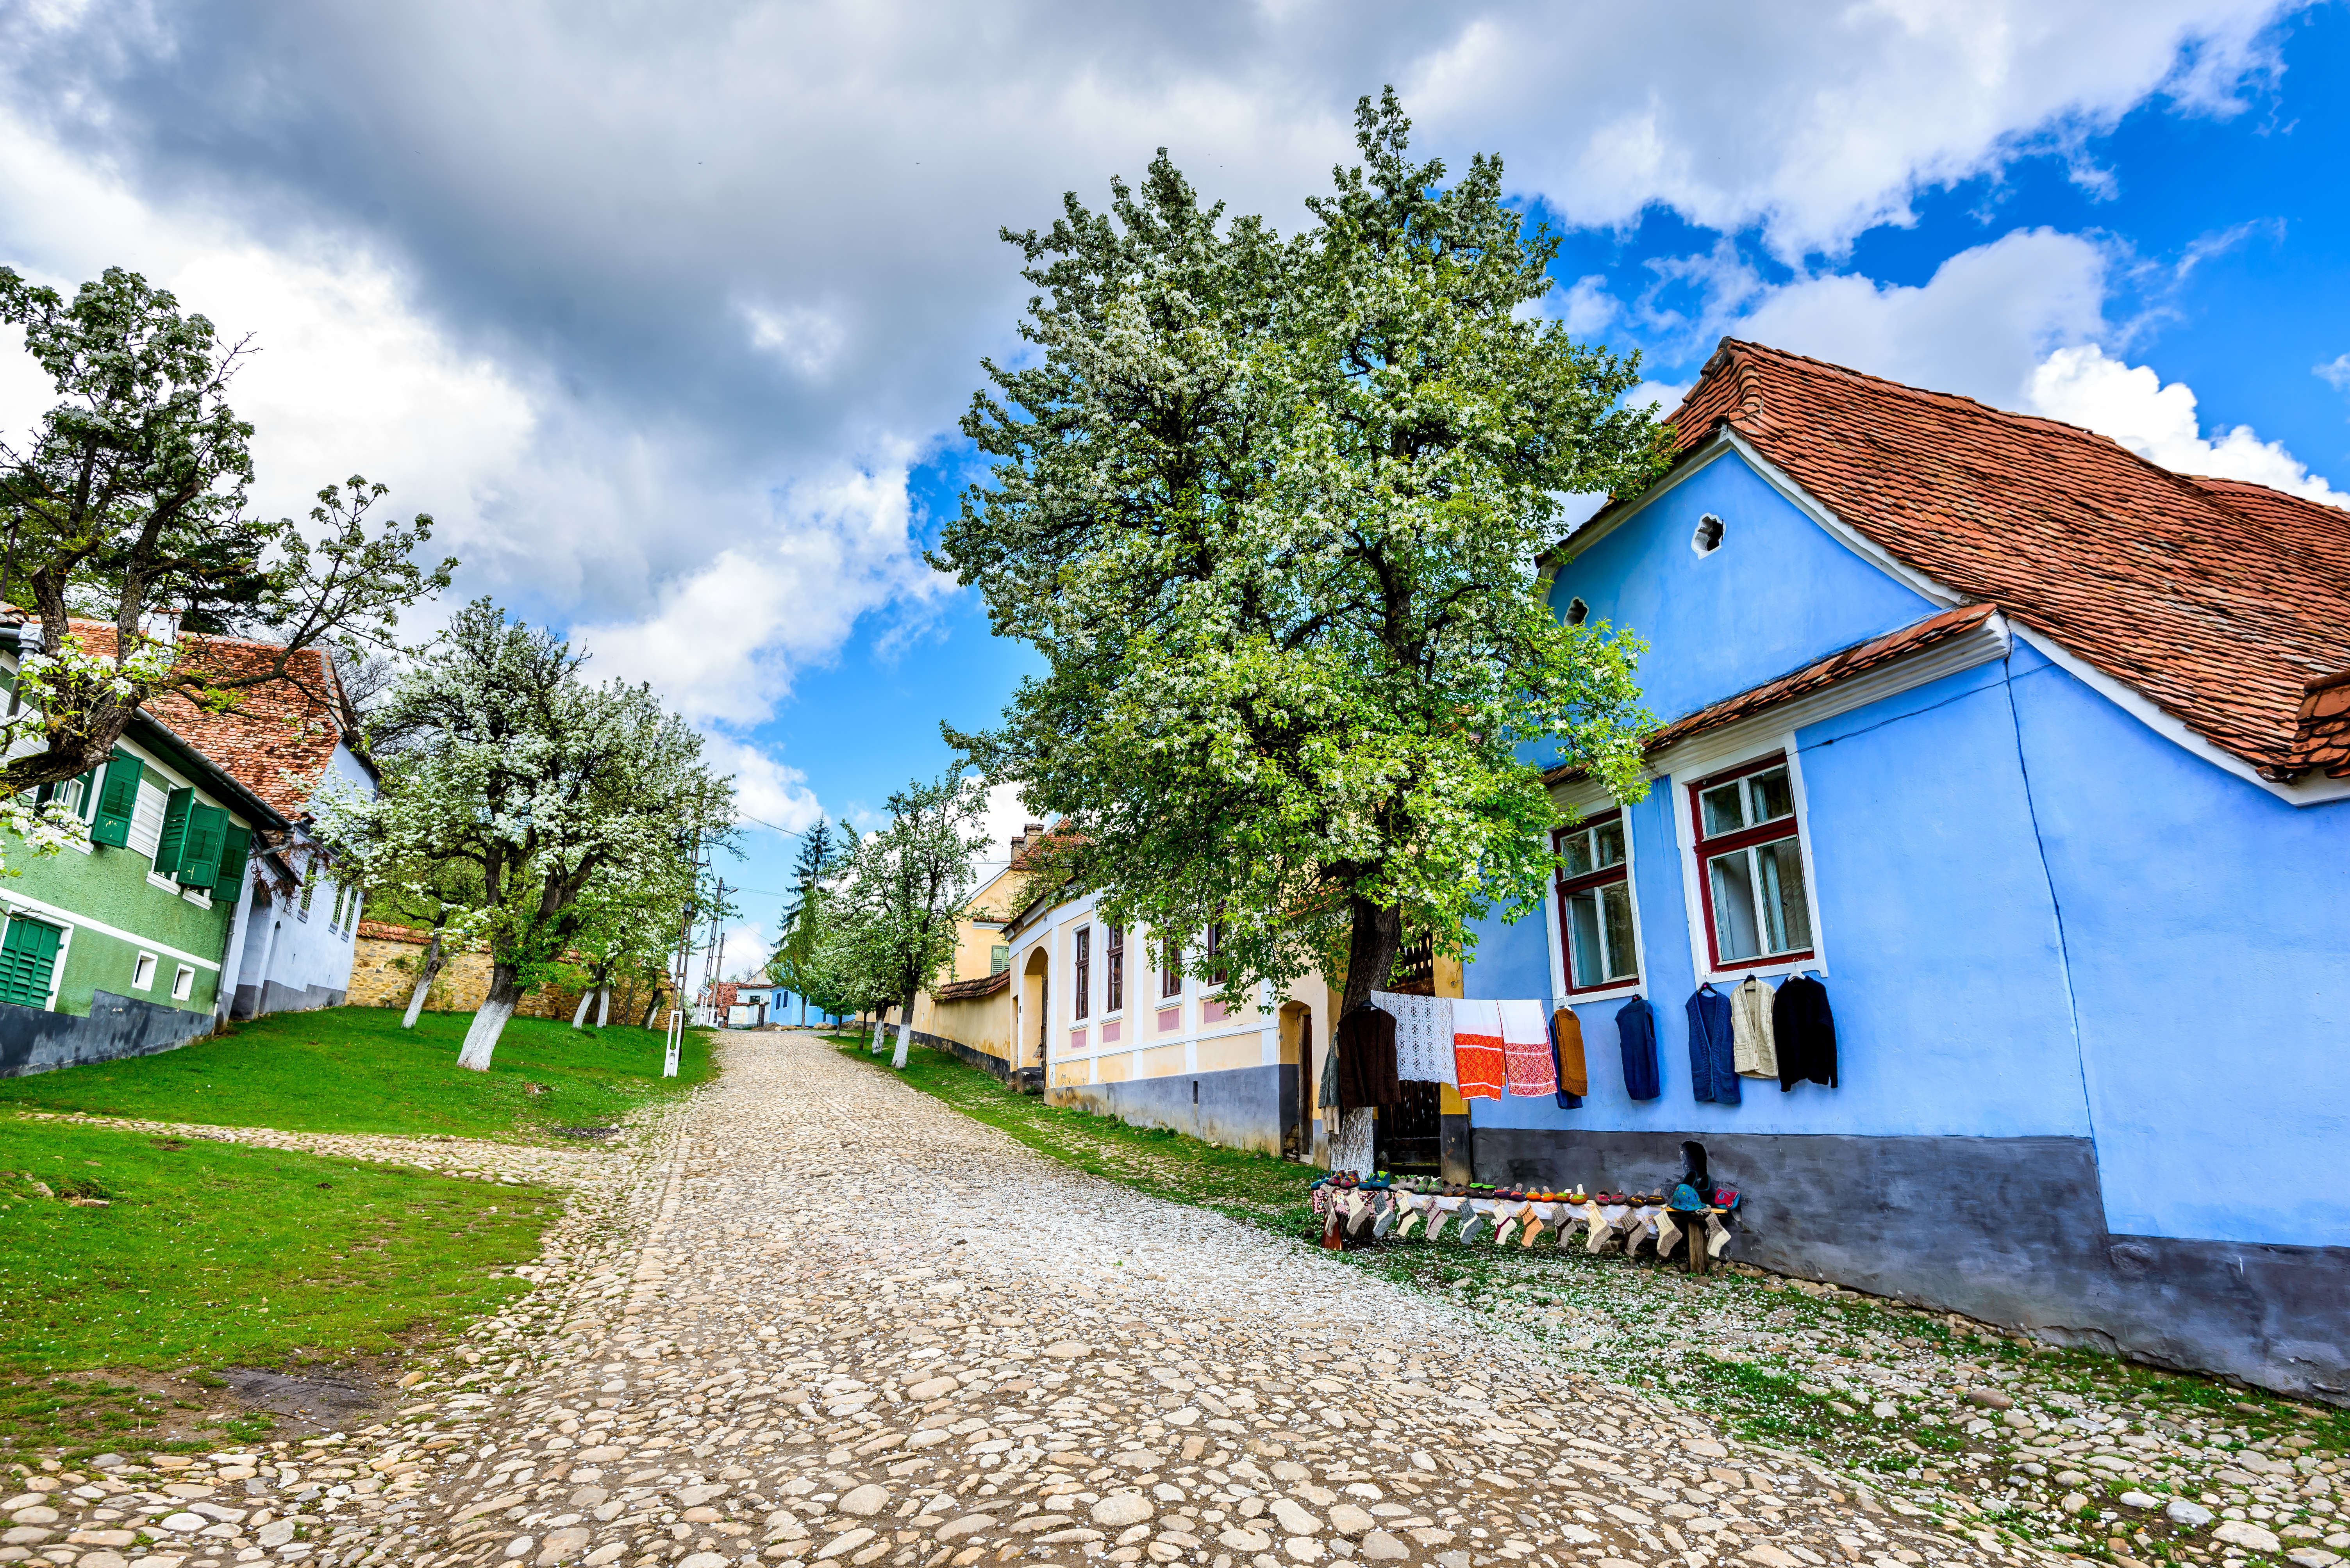
[[[569,1169],[538,1289],[395,1420],[42,1476],[0,1559],[2061,1561],[1046,1162],[813,1035],[721,1049]]]

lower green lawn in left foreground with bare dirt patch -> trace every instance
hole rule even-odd
[[[341,1361],[456,1329],[524,1289],[503,1270],[536,1256],[559,1202],[350,1160],[0,1120],[0,1451],[157,1446],[174,1413],[106,1371],[195,1368],[202,1380],[212,1366]],[[261,1427],[230,1420],[209,1441]]]

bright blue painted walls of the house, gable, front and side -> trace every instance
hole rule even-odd
[[[1699,559],[1704,512],[1727,530]],[[1574,596],[1650,641],[1659,716],[1934,608],[1734,455],[1567,563],[1553,606]],[[1661,1099],[1624,1094],[1610,1000],[1577,1007],[1584,1108],[1473,1101],[1473,1124],[2089,1136],[2117,1235],[2350,1244],[2350,1207],[2317,1197],[2350,1148],[2350,803],[2287,805],[2021,643],[1812,725],[1795,756],[1842,1084],[1690,1096],[1699,976],[1657,782],[1626,822]],[[1546,920],[1478,927],[1464,991],[1549,998]]]

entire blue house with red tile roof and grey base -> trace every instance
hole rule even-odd
[[[1567,876],[1464,976],[1591,1094],[1473,1101],[1476,1178],[1694,1138],[1732,1256],[2350,1394],[2350,514],[1737,340],[1673,425],[1553,577],[1650,646],[1647,798],[1553,775]],[[1802,972],[1833,1087],[1699,1099],[1690,995]]]

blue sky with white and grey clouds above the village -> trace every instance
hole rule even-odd
[[[1723,333],[2350,491],[2350,16],[2270,0],[0,0],[0,263],[261,354],[263,498],[383,479],[461,596],[738,768],[773,922],[1022,669],[921,542],[1025,289],[1001,225],[1166,146],[1276,225],[1394,82],[1567,237],[1671,401]],[[0,343],[0,425],[45,406]],[[1006,819],[1018,817],[1003,803]],[[757,941],[740,939],[743,951]]]

